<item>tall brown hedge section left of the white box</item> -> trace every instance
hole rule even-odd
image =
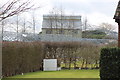
[[[3,76],[34,72],[41,68],[42,43],[3,42]]]

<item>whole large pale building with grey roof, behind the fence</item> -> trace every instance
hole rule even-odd
[[[44,15],[42,35],[59,34],[82,37],[81,16]]]

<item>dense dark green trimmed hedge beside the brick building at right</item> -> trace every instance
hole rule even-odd
[[[120,48],[103,48],[100,56],[101,80],[120,79]]]

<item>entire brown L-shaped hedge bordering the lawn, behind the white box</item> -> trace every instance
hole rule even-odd
[[[65,68],[98,67],[100,47],[81,42],[3,42],[3,76],[42,70],[43,59],[57,59]],[[77,61],[82,65],[77,66]],[[94,63],[94,64],[93,64]]]

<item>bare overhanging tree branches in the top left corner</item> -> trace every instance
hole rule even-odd
[[[17,6],[19,5],[19,6]],[[12,0],[0,6],[0,22],[8,17],[28,11],[34,7],[30,1]],[[3,16],[4,15],[4,16]]]

